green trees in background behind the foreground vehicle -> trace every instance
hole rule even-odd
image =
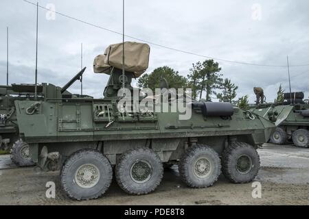
[[[137,82],[140,88],[159,88],[161,77],[164,77],[170,88],[191,88],[192,98],[200,101],[212,101],[214,96],[220,102],[229,102],[243,110],[249,109],[248,95],[235,100],[238,86],[231,82],[231,79],[223,78],[218,62],[214,60],[205,60],[192,64],[189,74],[185,77],[179,75],[179,72],[169,66],[155,68],[152,73],[144,74]],[[277,101],[281,101],[283,95],[280,85]]]

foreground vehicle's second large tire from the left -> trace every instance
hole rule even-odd
[[[119,157],[115,175],[120,188],[128,194],[148,194],[160,185],[163,164],[152,149],[130,149]]]

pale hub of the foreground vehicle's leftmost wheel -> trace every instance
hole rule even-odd
[[[100,179],[100,171],[93,164],[84,164],[76,170],[75,181],[82,188],[93,188]]]

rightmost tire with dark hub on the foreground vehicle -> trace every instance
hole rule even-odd
[[[250,144],[234,142],[222,153],[222,173],[233,183],[249,183],[260,169],[258,151]]]

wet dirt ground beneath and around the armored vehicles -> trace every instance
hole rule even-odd
[[[223,176],[210,188],[187,188],[174,166],[165,170],[152,194],[131,196],[113,181],[93,201],[72,201],[62,194],[58,172],[16,168],[8,155],[1,155],[0,205],[309,205],[309,149],[265,144],[258,152],[261,168],[255,181],[262,185],[262,198],[252,197],[251,183],[233,184]],[[56,198],[46,198],[47,181],[56,183]]]

